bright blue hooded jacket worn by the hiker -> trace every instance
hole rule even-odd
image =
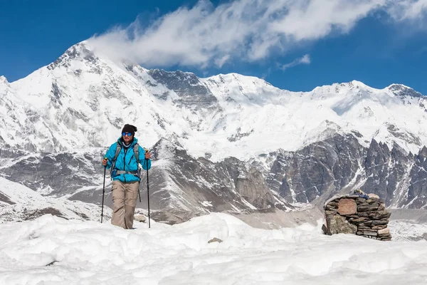
[[[107,150],[107,153],[104,157],[107,157],[107,169],[110,169],[112,166],[112,160],[114,159],[117,143],[122,145],[122,149],[117,156],[117,160],[115,162],[115,167],[111,172],[112,180],[120,180],[121,182],[133,182],[139,181],[139,177],[137,175],[133,175],[130,173],[116,175],[115,170],[124,170],[124,171],[137,171],[138,163],[137,159],[134,155],[134,145],[138,142],[137,138],[134,138],[130,147],[127,148],[127,152],[125,153],[125,147],[123,147],[123,143],[121,138],[117,140],[117,142],[113,143],[110,148]],[[151,160],[145,159],[145,150],[139,145],[139,163],[141,163],[142,168],[144,170],[149,170],[151,168]]]

